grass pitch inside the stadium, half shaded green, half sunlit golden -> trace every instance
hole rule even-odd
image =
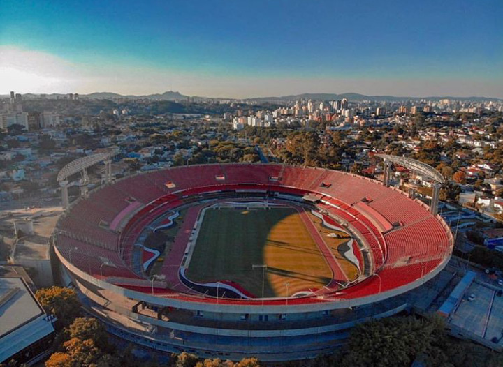
[[[318,289],[330,282],[332,271],[291,208],[207,209],[187,277],[196,282],[232,280],[261,297],[284,297]]]

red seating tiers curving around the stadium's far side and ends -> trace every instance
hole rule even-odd
[[[94,276],[101,267],[103,276],[138,278],[129,269],[131,253],[147,225],[198,195],[232,190],[312,194],[321,200],[317,205],[323,213],[347,223],[370,253],[371,269],[378,276],[347,288],[337,296],[342,299],[414,282],[437,269],[452,251],[449,228],[398,190],[344,172],[273,164],[193,165],[127,177],[77,202],[59,220],[57,246]],[[104,222],[111,223],[135,201],[145,206],[129,218],[122,232],[110,230]],[[358,255],[361,261],[359,251]]]

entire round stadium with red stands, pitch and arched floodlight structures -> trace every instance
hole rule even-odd
[[[386,181],[391,163],[435,172],[390,157],[384,183],[314,167],[189,165],[68,204],[68,177],[100,161],[110,172],[110,157],[85,158],[59,177],[68,207],[54,252],[119,338],[203,358],[314,358],[355,324],[407,310],[407,292],[451,257],[436,203]]]

